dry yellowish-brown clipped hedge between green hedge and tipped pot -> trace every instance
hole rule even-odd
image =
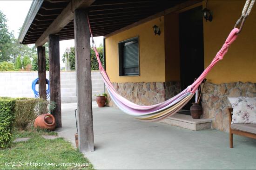
[[[34,98],[17,98],[15,102],[14,126],[25,129],[36,118],[35,106],[38,100]]]

